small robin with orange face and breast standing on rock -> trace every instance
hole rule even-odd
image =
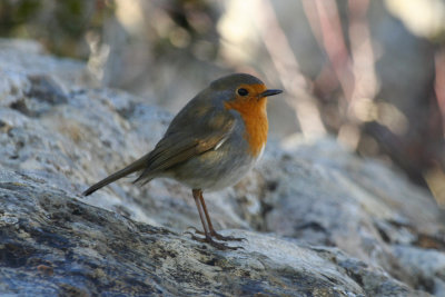
[[[202,224],[204,238],[218,249],[237,249],[215,239],[243,240],[215,231],[202,190],[236,184],[260,158],[266,146],[267,97],[281,90],[267,89],[258,78],[235,73],[215,80],[191,99],[174,118],[155,149],[87,189],[88,196],[103,186],[140,171],[135,184],[154,178],[172,178],[192,189]]]

